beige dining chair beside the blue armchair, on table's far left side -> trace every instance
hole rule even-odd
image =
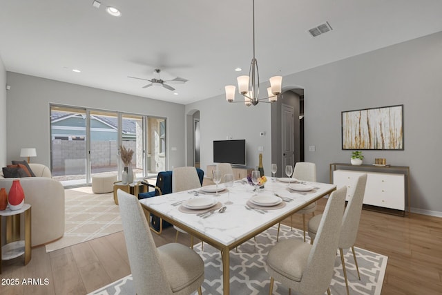
[[[172,171],[172,193],[179,191],[187,191],[189,189],[199,189],[201,187],[200,178],[195,167],[184,166],[177,167]],[[175,236],[175,242],[178,240],[178,234],[182,232],[187,234],[186,231],[180,229],[180,227],[173,226],[176,229],[177,234]],[[193,249],[193,236],[191,236],[191,248]]]

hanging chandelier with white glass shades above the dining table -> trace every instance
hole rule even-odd
[[[258,72],[258,61],[255,58],[255,0],[253,0],[253,58],[251,59],[249,75],[240,76],[238,80],[238,92],[244,97],[246,106],[256,106],[258,102],[276,102],[281,93],[282,77],[274,76],[269,79],[270,87],[267,88],[267,97],[259,98],[260,74]],[[227,102],[235,102],[236,86],[225,86]],[[266,101],[265,99],[269,99]]]

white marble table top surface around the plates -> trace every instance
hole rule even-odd
[[[175,202],[195,198],[193,193],[189,193],[189,191],[146,198],[140,200],[140,203],[148,211],[164,217],[171,223],[178,226],[184,225],[192,229],[203,240],[212,240],[223,247],[234,247],[238,243],[247,240],[251,235],[256,234],[257,231],[264,231],[302,209],[308,202],[327,196],[336,189],[334,184],[307,182],[306,184],[315,187],[313,191],[292,193],[287,190],[287,183],[268,179],[265,188],[258,192],[260,196],[274,196],[274,193],[278,193],[278,195],[291,198],[293,201],[286,202],[285,206],[280,209],[269,209],[264,214],[245,208],[245,204],[255,193],[251,185],[242,182],[235,182],[233,187],[229,188],[230,200],[233,204],[225,204],[229,197],[229,193],[225,191],[220,193],[220,196],[200,193],[198,197],[215,198],[227,207],[224,213],[215,212],[208,218],[201,218],[196,214],[180,211],[181,204],[172,205]],[[200,189],[197,191],[200,191]]]

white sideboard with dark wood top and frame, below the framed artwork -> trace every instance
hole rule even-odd
[[[366,209],[387,211],[387,213],[410,216],[410,167],[374,166],[363,164],[354,166],[347,163],[330,164],[330,183],[338,187],[347,186],[347,198],[352,196],[356,178],[367,173],[364,206]]]

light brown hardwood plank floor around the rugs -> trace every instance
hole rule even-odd
[[[318,202],[316,213],[323,211],[326,200]],[[294,216],[294,226],[302,219]],[[289,225],[289,218],[285,220]],[[154,234],[157,246],[172,242],[175,230]],[[189,245],[189,235],[179,242]],[[195,242],[198,242],[195,241]],[[442,293],[442,218],[412,214],[391,216],[363,210],[356,241],[361,247],[388,256],[382,294]],[[45,247],[32,249],[30,263],[23,259],[3,261],[0,294],[87,294],[130,274],[122,232],[46,254]],[[3,285],[8,279],[19,285]],[[23,285],[23,278],[48,279],[48,285]]]

